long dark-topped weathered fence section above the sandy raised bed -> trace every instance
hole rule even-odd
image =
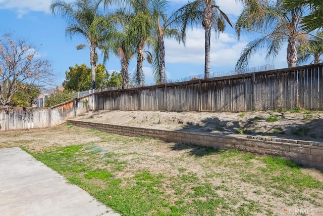
[[[323,64],[94,94],[95,110],[323,109]]]

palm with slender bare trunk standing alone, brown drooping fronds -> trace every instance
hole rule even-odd
[[[186,25],[195,26],[202,23],[205,30],[205,65],[204,78],[209,78],[210,72],[210,37],[213,27],[216,34],[219,35],[225,29],[225,20],[232,27],[228,16],[220,10],[214,0],[195,0],[189,2],[177,11],[177,16],[182,17],[183,30]],[[183,34],[182,30],[182,34]]]

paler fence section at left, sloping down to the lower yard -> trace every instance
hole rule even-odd
[[[93,95],[52,107],[0,107],[0,131],[56,126],[87,109],[93,109]]]

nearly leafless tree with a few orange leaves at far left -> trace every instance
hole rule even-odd
[[[30,86],[43,87],[53,81],[50,63],[41,59],[26,39],[0,37],[0,106],[8,106],[13,95]]]

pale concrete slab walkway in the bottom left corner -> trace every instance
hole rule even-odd
[[[20,148],[0,149],[0,215],[120,215]]]

